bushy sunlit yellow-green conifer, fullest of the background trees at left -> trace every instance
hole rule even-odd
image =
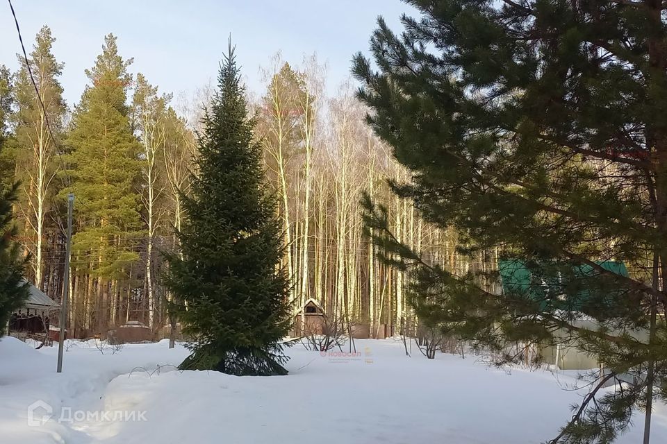
[[[102,53],[86,74],[92,85],[83,92],[67,139],[80,228],[72,239],[72,255],[91,259],[97,278],[97,325],[105,330],[115,311],[110,286],[138,260],[131,248],[142,228],[135,182],[140,173],[140,145],[131,131],[127,89],[132,60],[118,54],[116,37],[107,35]]]

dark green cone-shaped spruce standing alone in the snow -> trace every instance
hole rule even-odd
[[[281,224],[231,44],[203,123],[197,173],[182,196],[182,257],[167,255],[165,283],[193,338],[181,368],[285,375],[279,341],[290,321]]]

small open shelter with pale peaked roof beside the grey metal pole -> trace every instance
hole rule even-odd
[[[29,338],[50,345],[49,327],[60,306],[33,284],[28,283],[28,289],[28,300],[10,316],[8,334],[22,341]]]

